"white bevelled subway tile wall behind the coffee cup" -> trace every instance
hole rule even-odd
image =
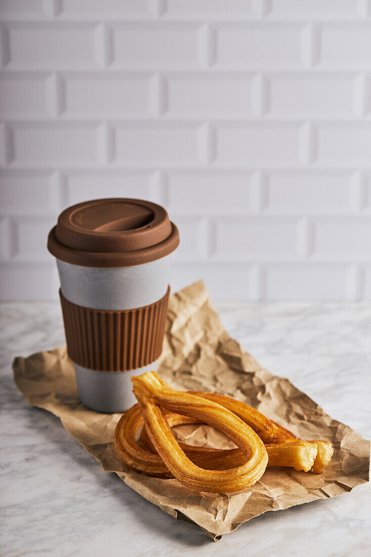
[[[371,299],[370,0],[0,0],[0,291],[56,299],[49,229],[162,203],[173,287]]]

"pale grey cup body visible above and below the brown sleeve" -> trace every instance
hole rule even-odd
[[[57,259],[66,300],[96,310],[131,310],[162,299],[170,279],[170,255],[131,267],[84,267]],[[124,412],[136,403],[130,378],[157,370],[157,361],[130,371],[102,372],[74,364],[81,402],[99,412]]]

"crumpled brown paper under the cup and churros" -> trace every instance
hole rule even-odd
[[[58,416],[104,470],[116,472],[160,509],[197,524],[214,540],[263,512],[335,497],[369,480],[369,442],[243,351],[223,329],[202,282],[170,296],[159,375],[178,389],[218,392],[247,402],[303,439],[330,441],[334,456],[323,474],[267,468],[251,488],[235,495],[215,495],[189,490],[177,480],[128,471],[116,457],[113,444],[120,414],[92,412],[80,404],[65,347],[16,358],[13,369],[17,387],[28,402]],[[177,434],[191,444],[231,446],[207,426],[181,426]]]

